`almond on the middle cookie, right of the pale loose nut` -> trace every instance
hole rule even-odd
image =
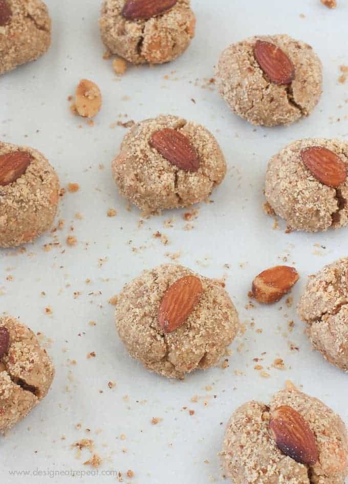
[[[199,169],[197,151],[179,131],[171,128],[159,129],[151,135],[149,143],[172,165],[191,172]]]

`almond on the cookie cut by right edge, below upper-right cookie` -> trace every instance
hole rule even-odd
[[[303,148],[300,156],[312,175],[324,185],[337,188],[345,181],[345,165],[333,151],[322,146],[310,146]]]

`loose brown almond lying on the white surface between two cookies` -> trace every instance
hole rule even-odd
[[[298,281],[293,267],[275,266],[256,275],[252,282],[252,294],[259,303],[276,303]]]

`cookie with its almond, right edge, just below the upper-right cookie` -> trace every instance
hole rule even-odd
[[[292,230],[326,231],[348,224],[348,143],[298,140],[267,167],[267,202]]]

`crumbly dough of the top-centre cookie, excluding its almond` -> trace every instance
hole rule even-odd
[[[125,3],[106,0],[102,6],[100,33],[110,52],[133,64],[162,64],[186,50],[195,29],[189,0],[178,0],[169,10],[147,20],[123,17]]]

